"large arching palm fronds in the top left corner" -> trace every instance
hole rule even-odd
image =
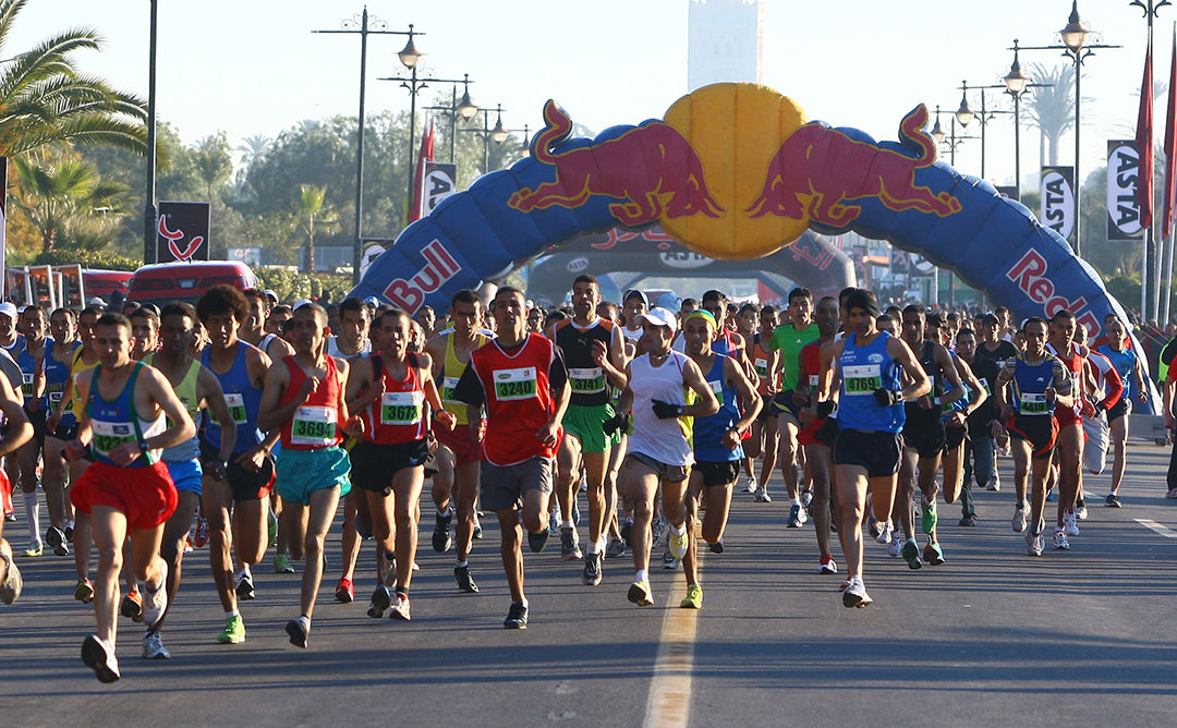
[[[101,49],[97,31],[72,28],[19,54],[5,47],[27,2],[0,0],[0,58],[13,56],[0,71],[0,155],[15,156],[60,141],[142,153],[144,101],[81,73],[73,62],[74,51]]]

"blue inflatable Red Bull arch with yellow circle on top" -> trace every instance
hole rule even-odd
[[[572,121],[554,101],[544,119],[530,158],[407,227],[352,294],[445,309],[458,289],[578,235],[659,225],[687,249],[727,261],[764,258],[806,231],[855,231],[953,271],[1015,318],[1065,308],[1098,334],[1108,313],[1123,315],[1057,233],[937,160],[923,105],[903,118],[898,141],[807,121],[796,101],[756,84],[700,88],[664,119],[592,140],[570,138]]]

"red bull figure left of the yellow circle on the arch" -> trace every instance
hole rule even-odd
[[[616,139],[553,153],[572,133],[572,120],[554,101],[544,106],[544,119],[547,126],[532,149],[537,160],[556,167],[556,180],[516,192],[508,207],[528,213],[557,205],[577,208],[597,195],[618,198],[624,201],[609,211],[631,227],[724,212],[707,189],[699,155],[670,125],[650,121]]]

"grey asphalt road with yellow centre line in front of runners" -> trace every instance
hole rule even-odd
[[[298,575],[260,567],[258,599],[242,609],[247,641],[220,646],[222,613],[198,549],[165,632],[172,660],[141,660],[140,629],[120,617],[113,686],[79,659],[94,623],[72,597],[72,560],[21,560],[25,594],[0,608],[0,714],[53,727],[1171,724],[1177,510],[1163,499],[1166,466],[1168,449],[1133,442],[1125,507],[1104,508],[1108,475],[1088,476],[1082,535],[1070,552],[1048,540],[1040,559],[1010,529],[1009,489],[977,494],[975,528],[942,505],[947,563],[911,572],[869,543],[866,609],[843,608],[842,577],[814,573],[812,525],[784,527],[777,481],[771,505],[737,493],[726,553],[704,556],[698,613],[677,608],[680,573],[656,569],[657,605],[638,608],[625,599],[627,556],[590,588],[553,541],[526,560],[530,628],[505,630],[494,526],[471,557],[481,593],[461,595],[452,554],[428,547],[426,519],[412,622],[365,615],[371,547],[358,601],[332,601],[337,527],[310,649],[284,632]],[[1003,476],[1008,488],[1008,460]],[[22,522],[5,536],[24,549]]]

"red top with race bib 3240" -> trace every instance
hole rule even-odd
[[[527,334],[523,345],[510,354],[498,341],[491,341],[470,355],[486,396],[490,425],[483,450],[491,465],[507,467],[531,457],[556,455],[554,445],[544,445],[536,438],[552,418],[547,374],[554,356],[556,345],[536,333]]]

